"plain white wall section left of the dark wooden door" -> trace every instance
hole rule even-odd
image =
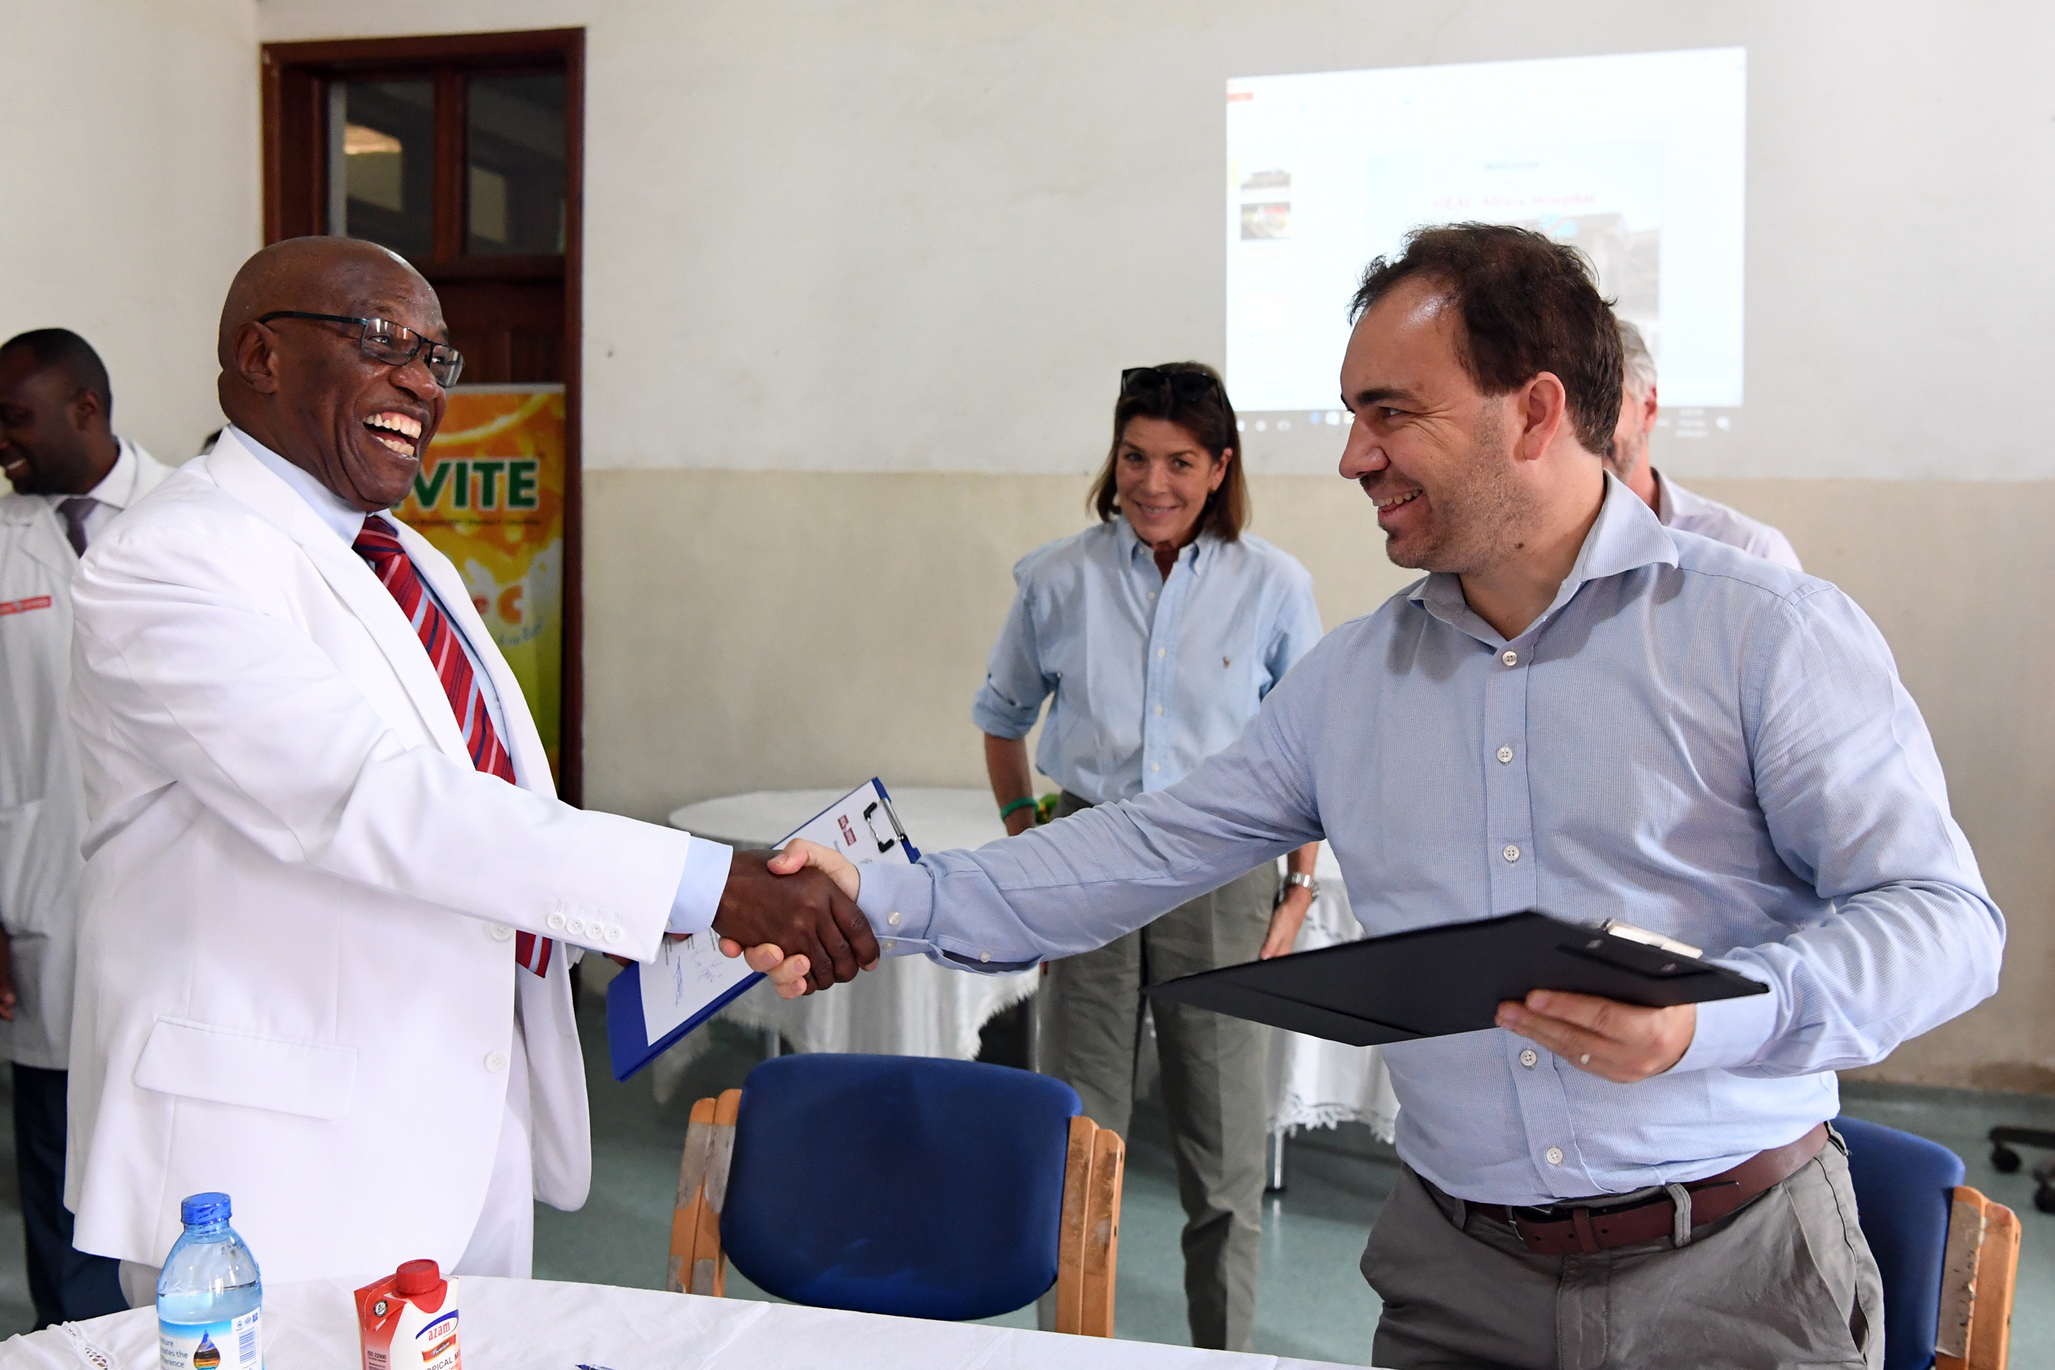
[[[253,0],[0,4],[0,339],[107,361],[115,431],[183,460],[222,423],[214,329],[259,244]]]

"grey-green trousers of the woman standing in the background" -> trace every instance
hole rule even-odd
[[[1064,795],[1060,815],[1085,807]],[[1128,1136],[1143,986],[1254,961],[1278,875],[1262,865],[1149,926],[1050,961],[1042,984],[1042,1070],[1071,1084],[1085,1115]],[[1163,1105],[1184,1202],[1184,1296],[1192,1345],[1247,1352],[1264,1236],[1264,1068],[1270,1029],[1184,1004],[1155,1004]]]

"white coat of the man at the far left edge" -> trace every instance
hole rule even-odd
[[[125,503],[171,468],[123,440]],[[0,495],[0,928],[14,957],[14,1021],[0,1058],[64,1070],[72,1041],[78,844],[86,795],[64,696],[72,678],[72,571],[64,516],[43,495]]]

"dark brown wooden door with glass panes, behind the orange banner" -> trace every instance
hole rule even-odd
[[[382,242],[429,279],[462,384],[561,382],[559,789],[584,793],[577,286],[584,29],[269,43],[265,242]]]

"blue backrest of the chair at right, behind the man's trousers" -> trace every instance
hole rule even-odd
[[[1862,1234],[1884,1278],[1884,1370],[1928,1370],[1963,1158],[1940,1142],[1860,1117],[1837,1117],[1833,1126],[1847,1142]]]

